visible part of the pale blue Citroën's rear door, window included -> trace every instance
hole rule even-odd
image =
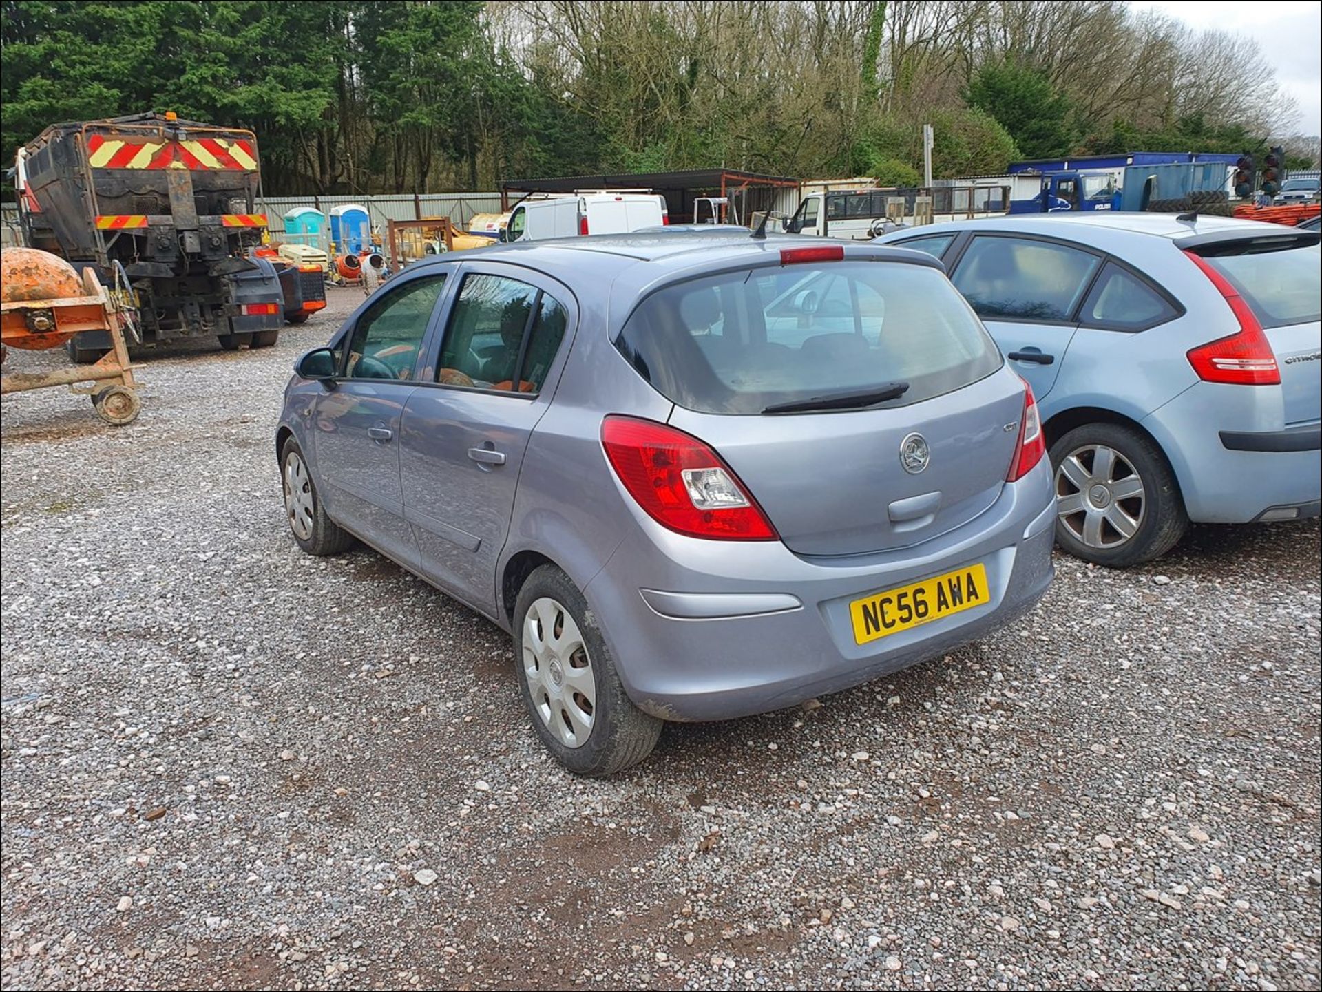
[[[973,235],[954,262],[954,288],[1039,400],[1055,386],[1101,262],[1072,244],[1006,234]]]

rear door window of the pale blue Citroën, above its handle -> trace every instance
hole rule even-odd
[[[1068,321],[1100,264],[1066,244],[981,235],[951,281],[986,320]]]

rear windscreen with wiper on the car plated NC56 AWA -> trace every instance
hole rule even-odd
[[[838,262],[730,272],[646,297],[616,339],[664,396],[699,413],[908,383],[884,406],[962,388],[1001,354],[945,276]]]

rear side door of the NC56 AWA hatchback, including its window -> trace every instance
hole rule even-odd
[[[496,557],[524,452],[575,320],[574,297],[559,283],[465,263],[430,349],[434,382],[405,404],[401,478],[420,571],[486,613],[496,610]]]

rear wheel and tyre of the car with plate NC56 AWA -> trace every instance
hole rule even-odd
[[[557,761],[602,778],[652,753],[662,721],[629,700],[587,600],[564,572],[535,569],[518,590],[513,621],[524,704]]]

